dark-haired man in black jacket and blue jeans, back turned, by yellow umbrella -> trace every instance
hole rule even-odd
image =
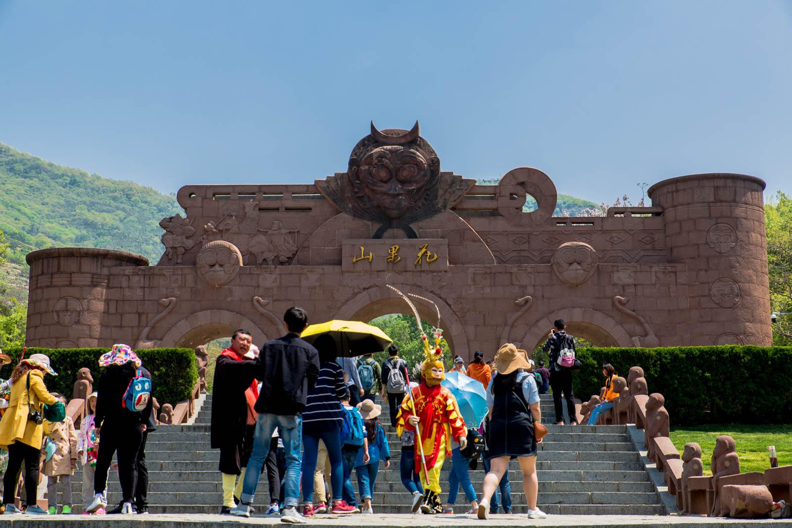
[[[308,387],[314,385],[319,374],[319,353],[299,337],[308,326],[305,310],[296,306],[289,308],[284,313],[284,323],[288,333],[267,341],[258,356],[256,377],[261,380],[261,393],[256,401],[258,418],[253,454],[242,485],[242,502],[231,513],[250,516],[250,505],[256,493],[261,466],[269,452],[272,431],[278,427],[286,449],[284,509],[280,517],[284,522],[305,522],[297,512],[303,448],[302,412]]]

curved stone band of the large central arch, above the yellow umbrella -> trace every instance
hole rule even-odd
[[[443,336],[451,347],[451,353],[461,355],[466,360],[470,360],[470,346],[467,343],[467,336],[462,322],[459,321],[454,310],[448,306],[443,299],[437,297],[418,287],[406,284],[396,285],[402,293],[416,294],[431,299],[440,310],[440,327],[443,329]],[[421,299],[410,297],[410,300],[418,310],[418,315],[425,321],[436,321],[437,313],[435,307]],[[370,287],[360,292],[350,299],[338,310],[335,319],[345,319],[348,321],[371,321],[375,317],[387,315],[388,313],[408,313],[412,315],[409,306],[404,299],[386,286]]]

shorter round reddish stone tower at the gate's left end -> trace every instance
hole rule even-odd
[[[110,270],[149,264],[145,257],[133,253],[94,248],[39,249],[29,253],[27,261],[26,344],[46,348],[112,345],[100,335],[103,327],[106,332],[114,326],[107,317],[120,317],[107,305],[112,302],[106,298]]]

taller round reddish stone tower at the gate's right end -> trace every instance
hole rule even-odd
[[[687,264],[694,345],[770,345],[765,184],[744,174],[693,174],[649,188],[663,207],[670,263]]]

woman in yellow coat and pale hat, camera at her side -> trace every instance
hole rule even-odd
[[[25,462],[25,492],[31,503],[27,513],[47,515],[36,505],[36,488],[39,486],[40,451],[44,439],[41,413],[44,404],[52,405],[57,401],[44,386],[44,373],[57,375],[49,363],[46,355],[33,354],[14,367],[9,380],[11,397],[6,413],[0,420],[0,447],[8,450],[8,467],[3,476],[6,514],[21,513],[14,504],[14,494],[17,490],[17,474],[22,462]],[[38,412],[38,416],[30,416],[32,411]]]

